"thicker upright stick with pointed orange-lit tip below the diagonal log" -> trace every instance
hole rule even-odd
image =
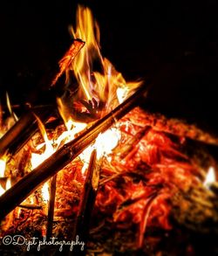
[[[90,157],[87,176],[85,178],[82,198],[80,200],[78,215],[72,237],[72,240],[74,241],[78,237],[79,241],[84,242],[85,245],[88,240],[92,210],[99,187],[99,169],[100,168],[97,162],[97,151],[94,149]],[[85,255],[85,249],[82,251],[80,246],[76,246],[73,248],[72,254]]]

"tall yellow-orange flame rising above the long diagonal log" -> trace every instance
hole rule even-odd
[[[76,29],[71,28],[72,36],[85,41],[82,51],[78,52],[72,63],[72,70],[78,80],[86,100],[95,98],[106,103],[106,110],[116,107],[120,100],[125,100],[127,93],[140,86],[140,82],[126,83],[122,74],[117,72],[112,63],[103,58],[99,45],[99,24],[92,17],[92,11],[78,5]],[[99,65],[99,66],[98,66]],[[99,70],[94,70],[98,66]],[[117,96],[117,90],[126,93]],[[81,96],[81,93],[80,93]],[[119,98],[119,99],[118,99]],[[118,101],[119,100],[119,101]]]

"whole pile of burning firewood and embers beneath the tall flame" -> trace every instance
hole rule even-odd
[[[74,40],[50,90],[83,47]],[[59,115],[30,107],[11,128],[10,111],[1,123],[1,255],[217,255],[218,138],[147,112],[146,83],[133,87],[110,104],[98,91],[99,101],[84,100],[77,88],[70,111],[60,99]]]

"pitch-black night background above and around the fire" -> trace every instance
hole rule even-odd
[[[1,3],[0,98],[24,102],[71,43],[78,3],[99,22],[103,55],[126,80],[149,79],[153,111],[218,131],[218,4],[205,1]]]

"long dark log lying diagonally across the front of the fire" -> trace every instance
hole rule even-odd
[[[52,156],[41,163],[35,170],[24,176],[19,182],[5,191],[0,197],[0,219],[4,218],[18,204],[21,204],[26,197],[37,189],[38,186],[46,182],[51,176],[62,170],[68,163],[71,163],[85,148],[87,148],[98,135],[112,124],[127,114],[133,107],[140,103],[140,99],[146,96],[147,86],[140,88],[133,93],[118,107],[115,107],[111,113],[96,121],[92,127],[87,128],[81,135],[78,135],[72,142],[66,143],[58,149]]]

